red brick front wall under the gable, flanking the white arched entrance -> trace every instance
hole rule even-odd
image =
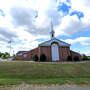
[[[57,44],[57,43],[55,43],[55,44]],[[59,47],[59,59],[60,59],[60,61],[66,61],[67,57],[70,56],[70,48],[69,47],[62,47],[59,45],[58,45],[58,47]],[[39,57],[40,57],[40,54],[42,54],[42,53],[44,53],[46,55],[47,61],[52,61],[51,46],[39,47]]]

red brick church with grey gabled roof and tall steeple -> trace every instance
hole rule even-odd
[[[51,39],[39,44],[37,48],[30,51],[19,51],[16,59],[30,61],[33,55],[38,55],[40,61],[40,55],[45,54],[47,62],[67,61],[68,56],[72,58],[78,56],[79,60],[81,60],[81,55],[79,53],[70,50],[70,44],[56,39],[54,34],[53,24],[51,23]]]

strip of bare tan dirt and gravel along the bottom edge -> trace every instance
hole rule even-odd
[[[90,90],[90,85],[16,85],[16,86],[0,86],[0,90]]]

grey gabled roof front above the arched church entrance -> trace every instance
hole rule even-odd
[[[51,43],[53,43],[53,42],[57,42],[59,44],[59,46],[68,46],[68,47],[70,46],[70,44],[63,42],[63,41],[56,39],[56,38],[45,41],[45,42],[39,44],[39,46],[51,46]]]

